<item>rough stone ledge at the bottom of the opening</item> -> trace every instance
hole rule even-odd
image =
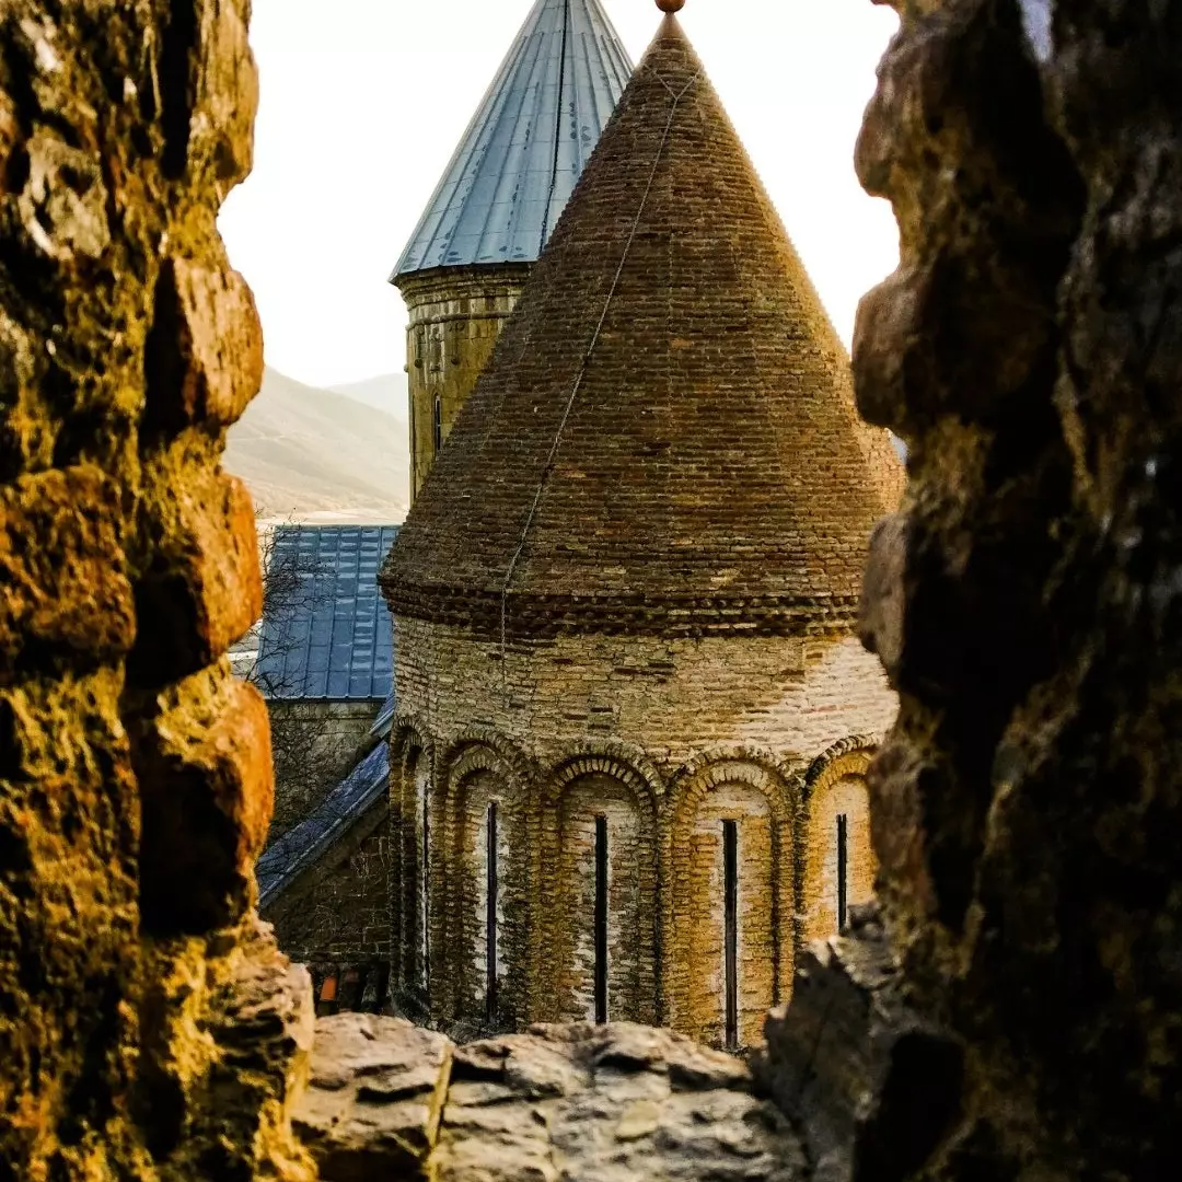
[[[296,1126],[325,1182],[805,1176],[787,1121],[739,1060],[643,1026],[453,1047],[400,1019],[322,1019]]]

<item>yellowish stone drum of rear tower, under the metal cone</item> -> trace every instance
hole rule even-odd
[[[435,462],[435,405],[447,439],[530,274],[527,264],[441,267],[398,280],[410,316],[410,499]]]

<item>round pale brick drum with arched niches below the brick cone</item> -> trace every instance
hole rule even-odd
[[[836,863],[810,865],[805,852],[810,765],[830,753],[860,775],[872,739],[853,743],[856,767],[849,740],[894,715],[872,658],[850,638],[565,636],[511,643],[502,661],[499,644],[460,629],[402,618],[396,629],[394,959],[404,993],[421,1005],[429,993],[430,1012],[457,1034],[593,1019],[603,817],[609,1017],[669,1021],[722,1045],[723,823],[735,820],[739,1041],[759,1041],[768,1006],[791,993],[801,902],[820,907],[836,890]],[[502,844],[495,1013],[485,948],[493,800]],[[865,855],[864,804],[849,825]],[[851,871],[856,902],[872,859],[853,859]],[[827,920],[808,922],[836,931],[836,902]]]

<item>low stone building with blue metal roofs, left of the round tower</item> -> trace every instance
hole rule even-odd
[[[307,965],[318,1008],[377,1008],[389,976],[390,613],[377,566],[397,526],[281,526],[259,660],[275,808],[259,908]]]

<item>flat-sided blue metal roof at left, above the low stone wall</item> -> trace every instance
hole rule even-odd
[[[394,629],[377,571],[396,525],[280,526],[252,680],[267,697],[383,701],[392,689]]]

